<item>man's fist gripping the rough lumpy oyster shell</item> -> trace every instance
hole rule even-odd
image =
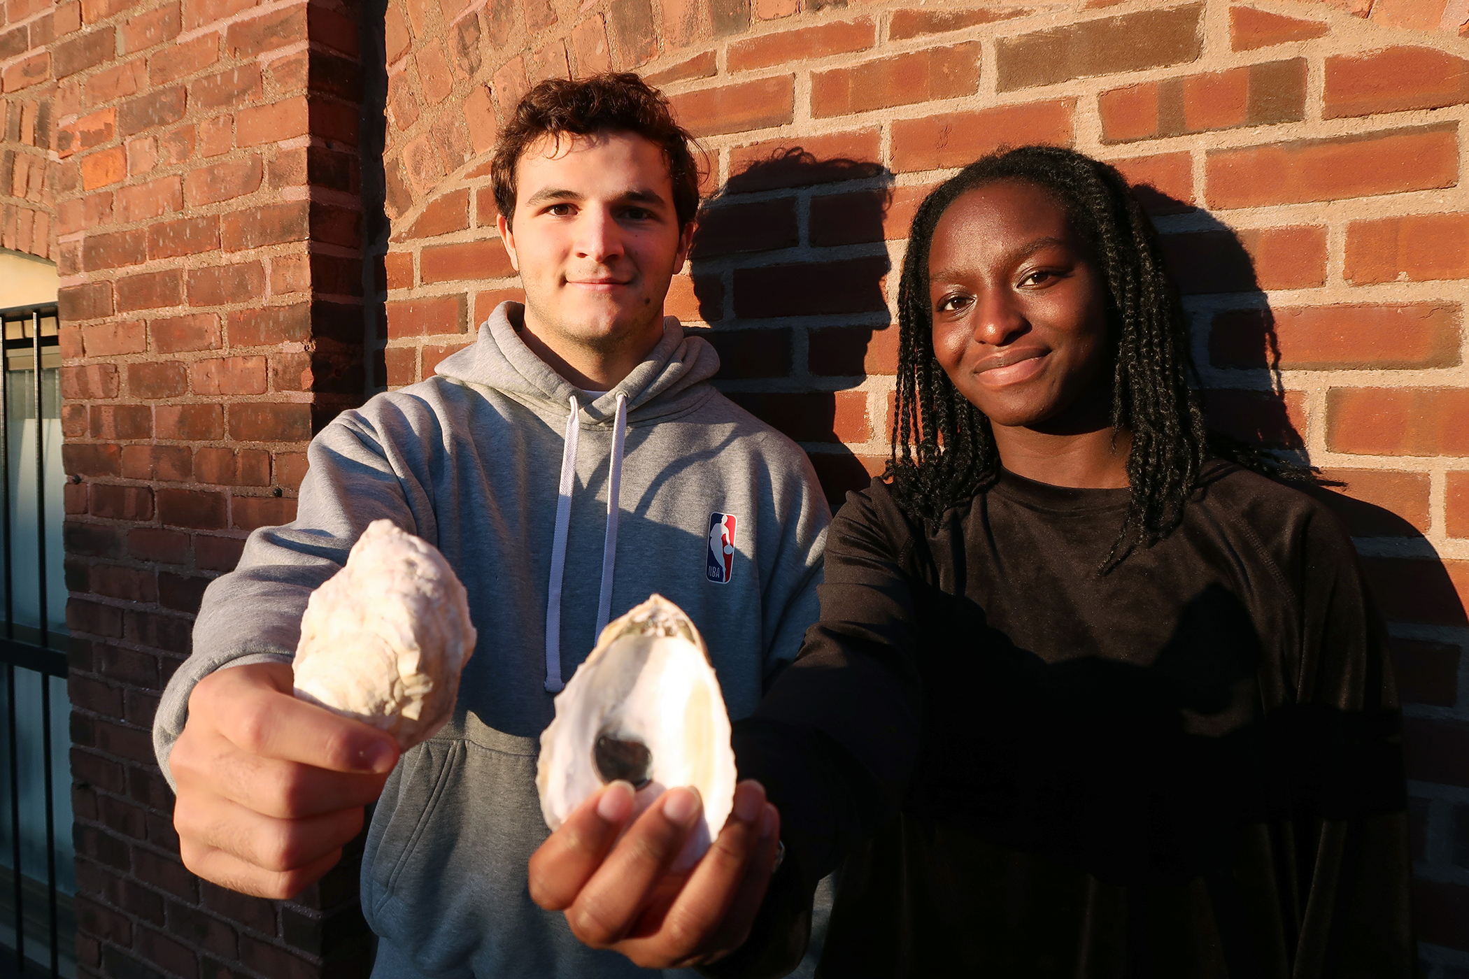
[[[297,700],[291,678],[286,663],[210,674],[169,756],[184,866],[257,897],[331,870],[398,763],[392,737]]]

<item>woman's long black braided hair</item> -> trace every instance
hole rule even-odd
[[[999,477],[990,421],[953,386],[933,352],[928,251],[943,213],[968,191],[1024,181],[1049,192],[1087,244],[1108,285],[1112,348],[1112,426],[1133,434],[1127,461],[1131,503],[1102,564],[1106,572],[1138,543],[1166,537],[1210,448],[1199,407],[1197,370],[1178,294],[1163,269],[1158,235],[1114,167],[1059,147],[1019,147],[986,156],[939,185],[918,207],[898,286],[898,411],[886,478],[899,503],[924,524]],[[1278,474],[1249,446],[1224,455]]]

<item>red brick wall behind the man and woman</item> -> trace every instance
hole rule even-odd
[[[370,179],[335,4],[0,4],[0,247],[60,264],[81,477],[84,975],[360,975],[353,867],[267,903],[178,865],[156,691],[201,586],[289,518],[304,440],[363,363],[369,389],[417,380],[516,295],[495,126],[533,81],[607,68],[663,85],[708,150],[717,198],[668,310],[711,327],[720,385],[833,493],[887,454],[892,269],[925,189],[1028,141],[1140,185],[1216,421],[1346,481],[1407,702],[1426,979],[1469,969],[1466,0],[386,0]]]

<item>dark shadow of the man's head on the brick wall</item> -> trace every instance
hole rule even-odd
[[[806,443],[833,506],[883,464],[845,443],[887,432],[868,395],[851,389],[896,370],[884,247],[892,185],[881,164],[784,148],[730,175],[699,211],[690,251],[699,317],[720,354],[715,380]]]

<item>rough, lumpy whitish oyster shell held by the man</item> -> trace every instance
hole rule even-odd
[[[408,749],[450,719],[473,652],[469,600],[448,561],[391,520],[375,520],[306,603],[295,696]]]

